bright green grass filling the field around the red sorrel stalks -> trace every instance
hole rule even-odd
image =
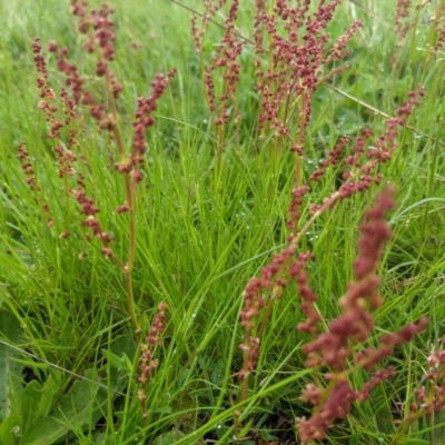
[[[27,8],[10,3],[0,2],[0,332],[10,345],[0,344],[0,365],[2,372],[18,366],[19,378],[13,380],[6,370],[1,377],[6,398],[0,399],[0,439],[4,445],[301,443],[296,418],[309,417],[312,407],[299,397],[317,369],[305,366],[301,347],[310,338],[296,329],[305,317],[295,283],[289,281],[283,298],[273,304],[246,397],[237,378],[246,358],[239,348],[245,338],[244,290],[287,246],[295,187],[296,155],[286,142],[285,149],[277,149],[271,132],[259,137],[256,127],[260,107],[253,47],[248,44],[240,59],[240,123],[229,121],[221,138],[212,125],[202,72],[224,29],[209,23],[202,53],[197,55],[190,11],[170,1],[110,1],[117,32],[112,69],[123,86],[117,107],[128,147],[136,99],[150,93],[157,72],[177,68],[147,134],[145,180],[137,189],[131,279],[142,333],[135,334],[122,270],[103,257],[99,240],[85,239],[85,216],[67,192],[76,181],[59,178],[55,144],[37,107],[32,39],[40,37],[56,91],[63,78],[56,56],[47,52],[51,40],[69,47],[70,60],[89,78],[95,93],[105,96],[106,88],[91,75],[93,58],[81,50],[68,1],[28,1]],[[399,129],[390,161],[379,167],[382,186],[324,212],[301,237],[298,251],[315,255],[306,270],[318,296],[322,326],[328,329],[342,313],[339,298],[355,279],[364,212],[384,185],[394,184],[397,206],[388,217],[393,235],[378,270],[385,304],[373,315],[376,327],[368,344],[378,347],[382,335],[425,315],[429,322],[380,364],[393,365],[397,376],[374,388],[366,402],[356,402],[347,418],[329,428],[324,443],[441,444],[445,425],[439,409],[432,417],[406,419],[416,389],[424,385],[427,357],[445,335],[444,49],[436,56],[427,51],[437,39],[436,22],[428,18],[441,8],[437,17],[443,18],[444,2],[413,8],[409,32],[400,44],[394,32],[396,2],[380,3],[362,2],[362,9],[344,1],[328,26],[334,42],[354,20],[363,20],[348,46],[353,52],[347,69],[314,92],[301,178],[308,179],[340,137],[354,139],[364,127],[382,135],[383,113],[395,116],[419,83],[425,97]],[[199,1],[186,6],[202,11]],[[251,39],[253,6],[245,2],[240,8],[237,30]],[[226,6],[215,21],[224,24],[227,13]],[[115,239],[116,256],[126,258],[129,226],[126,216],[115,211],[126,199],[121,176],[112,168],[116,149],[88,113],[78,125],[85,132],[79,132],[77,155],[88,164],[78,162],[76,168],[86,176],[88,194],[100,208],[103,230]],[[26,184],[17,152],[21,141],[41,191]],[[338,188],[343,171],[334,166],[312,184],[299,227],[309,219],[309,205],[322,204]],[[43,204],[49,212],[42,211]],[[70,237],[61,239],[67,230]],[[82,260],[80,254],[86,254]],[[162,344],[150,349],[159,365],[144,386],[144,407],[137,396],[139,349],[160,301],[168,305],[167,324]],[[260,324],[258,318],[257,329]],[[368,379],[363,369],[349,378],[357,388]],[[40,386],[34,390],[30,384],[36,380],[32,385]],[[433,393],[437,387],[439,383]],[[42,395],[50,400],[43,403]],[[30,400],[38,400],[40,411],[29,408]],[[72,412],[66,408],[70,404]],[[55,425],[60,427],[57,437],[48,433]],[[407,428],[398,429],[400,425]],[[21,438],[11,436],[17,426]]]

